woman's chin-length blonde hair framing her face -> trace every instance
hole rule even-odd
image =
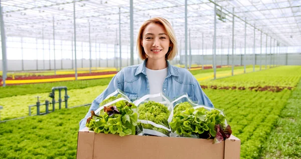
[[[145,21],[142,24],[142,26],[140,27],[139,32],[138,32],[138,37],[137,37],[137,51],[138,51],[138,54],[139,54],[140,58],[142,60],[145,60],[147,58],[147,55],[146,55],[146,53],[145,53],[145,51],[142,47],[141,41],[142,41],[143,31],[146,28],[146,26],[150,23],[160,24],[167,31],[167,34],[170,38],[170,45],[171,46],[170,46],[167,54],[165,55],[165,58],[167,60],[173,59],[178,53],[178,45],[177,45],[177,39],[176,39],[175,31],[174,31],[172,25],[169,23],[169,21],[167,21],[166,19],[164,19],[162,17],[151,18],[151,19]]]

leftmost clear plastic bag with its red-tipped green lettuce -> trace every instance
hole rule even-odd
[[[100,103],[95,112],[91,111],[86,126],[96,133],[135,135],[140,132],[137,119],[136,106],[122,91],[116,90]]]

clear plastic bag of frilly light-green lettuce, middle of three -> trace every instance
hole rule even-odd
[[[162,102],[154,102],[149,99],[162,97]],[[173,117],[173,105],[163,93],[145,95],[134,101],[138,107],[138,122],[142,126],[143,135],[170,136],[169,123]]]

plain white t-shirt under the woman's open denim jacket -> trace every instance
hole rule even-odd
[[[167,67],[160,70],[153,70],[146,68],[146,75],[149,83],[149,94],[158,94],[162,92],[163,83],[167,77]],[[162,102],[162,97],[150,98],[149,100],[155,102]]]

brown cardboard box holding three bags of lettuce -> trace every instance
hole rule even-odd
[[[157,137],[78,132],[77,158],[225,158],[240,157],[240,139],[231,135],[223,142],[212,139]]]

